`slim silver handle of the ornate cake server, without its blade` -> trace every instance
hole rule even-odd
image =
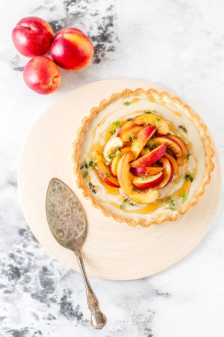
[[[106,316],[99,309],[99,302],[87,278],[80,251],[75,251],[75,254],[85,282],[87,303],[91,311],[90,324],[94,329],[102,329],[106,325]]]

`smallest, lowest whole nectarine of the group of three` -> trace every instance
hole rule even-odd
[[[24,67],[26,85],[38,94],[51,94],[60,85],[61,74],[57,65],[47,56],[37,56]]]

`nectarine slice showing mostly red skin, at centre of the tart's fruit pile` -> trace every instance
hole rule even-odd
[[[165,143],[163,143],[159,145],[156,149],[149,152],[148,154],[133,161],[130,165],[131,167],[151,165],[155,161],[159,160],[164,155],[164,153],[166,152],[166,149],[167,149],[167,146]]]

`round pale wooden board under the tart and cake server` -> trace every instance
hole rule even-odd
[[[71,160],[72,142],[82,118],[112,93],[139,87],[168,91],[144,81],[116,79],[90,83],[68,93],[52,104],[35,123],[20,158],[20,201],[31,231],[53,257],[79,271],[75,254],[56,242],[46,219],[48,184],[53,177],[61,179],[75,192],[85,209],[88,232],[82,255],[87,274],[98,278],[138,279],[173,265],[203,238],[219,204],[221,165],[214,141],[216,157],[212,181],[206,186],[205,195],[199,197],[198,205],[173,223],[132,228],[105,217],[82,196],[82,190],[76,186]]]

